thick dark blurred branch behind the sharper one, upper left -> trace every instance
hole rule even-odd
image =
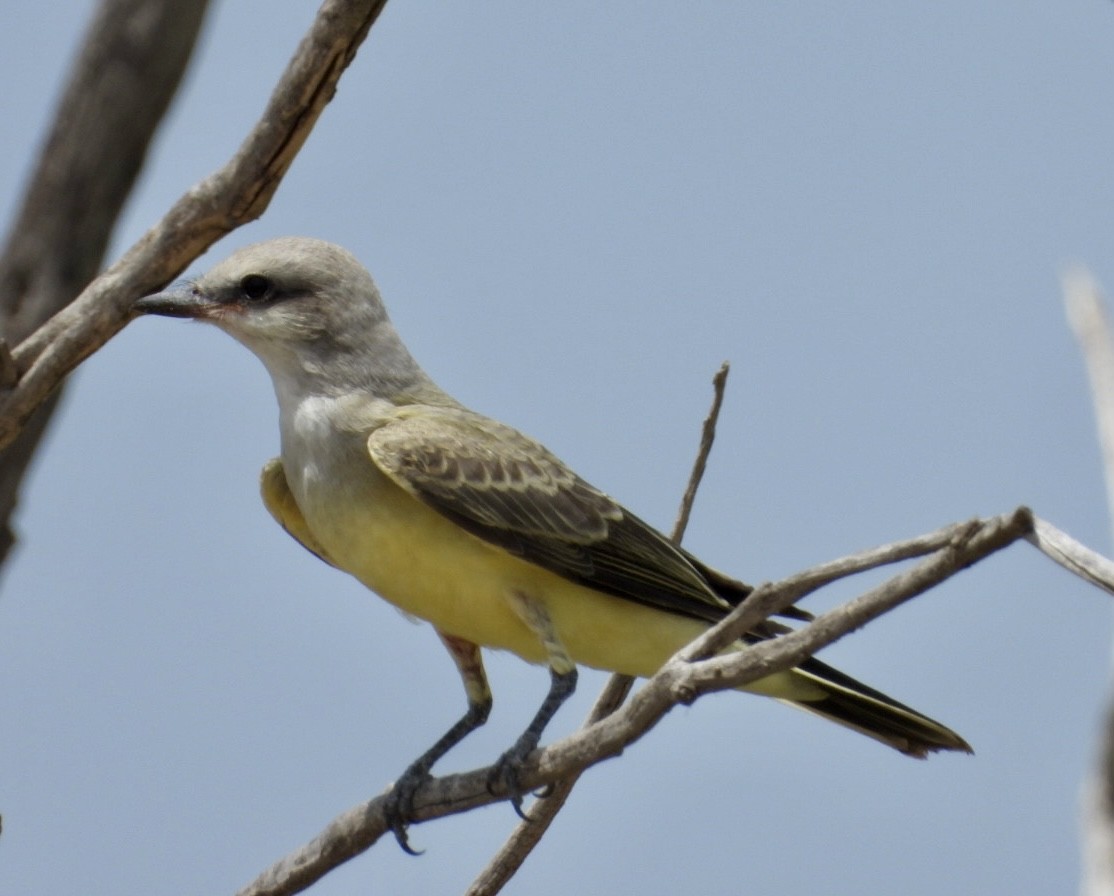
[[[7,343],[63,308],[99,270],[207,6],[104,0],[98,8],[0,255],[0,390],[18,381]],[[21,438],[0,451],[0,564],[16,540],[19,487],[53,401],[38,407]]]

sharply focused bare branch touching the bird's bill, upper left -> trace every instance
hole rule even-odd
[[[127,323],[137,296],[160,289],[218,238],[263,213],[384,6],[325,0],[235,156],[14,350],[21,379],[0,407],[0,448],[70,370]]]

